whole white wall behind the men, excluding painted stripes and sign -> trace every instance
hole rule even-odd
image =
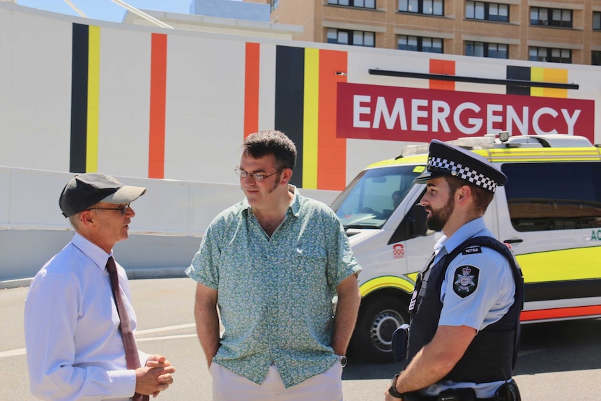
[[[551,65],[476,57],[303,43],[139,27],[70,17],[0,1],[0,281],[28,277],[73,233],[58,208],[70,168],[73,24],[100,27],[98,171],[149,188],[135,202],[132,238],[118,244],[132,269],[189,263],[213,217],[242,198],[234,167],[243,141],[246,43],[260,43],[259,129],[274,127],[278,45],[347,54],[347,82],[427,88],[427,80],[369,75],[370,68],[429,71],[429,60],[455,61],[456,75],[503,79],[505,66],[568,70],[595,100],[596,66]],[[165,180],[149,176],[152,35],[167,36]],[[510,63],[510,64],[509,64]],[[456,84],[499,93],[503,86]],[[595,121],[601,143],[601,121]],[[397,156],[407,142],[346,139],[347,182],[366,165]],[[325,150],[327,151],[327,149]],[[327,173],[326,173],[327,174]],[[342,188],[340,188],[342,189]],[[302,190],[326,203],[335,191]],[[35,250],[36,252],[34,252]],[[54,252],[54,253],[52,253]],[[190,252],[192,255],[189,255]]]

